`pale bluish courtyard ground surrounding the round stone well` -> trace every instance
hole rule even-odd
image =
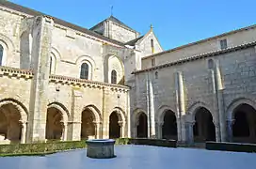
[[[86,149],[44,157],[0,158],[4,169],[254,169],[254,153],[159,146],[115,146],[117,158],[89,159]]]

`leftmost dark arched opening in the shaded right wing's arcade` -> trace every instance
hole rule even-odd
[[[138,124],[136,126],[136,137],[147,138],[148,137],[148,119],[147,115],[141,113],[138,115]]]

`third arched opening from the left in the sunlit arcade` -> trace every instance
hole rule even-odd
[[[82,112],[81,139],[95,139],[94,115],[89,109]]]

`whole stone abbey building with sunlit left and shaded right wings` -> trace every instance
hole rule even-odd
[[[163,51],[0,0],[0,143],[151,137],[256,143],[256,25]]]

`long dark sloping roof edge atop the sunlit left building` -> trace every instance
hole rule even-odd
[[[47,14],[42,13],[40,11],[31,9],[31,8],[25,8],[23,6],[11,3],[11,2],[6,1],[6,0],[0,0],[0,6],[6,7],[6,8],[10,8],[10,9],[13,9],[13,10],[16,10],[16,11],[19,11],[19,12],[22,12],[22,13],[25,13],[25,14],[28,14],[28,15],[32,15],[32,16],[47,15]],[[93,31],[90,31],[87,28],[81,27],[79,25],[76,25],[76,24],[73,24],[73,23],[68,23],[66,21],[60,20],[60,19],[55,18],[55,17],[52,17],[52,18],[53,18],[55,23],[58,23],[60,25],[69,27],[69,28],[77,30],[77,31],[80,31],[82,33],[88,34],[88,35],[93,36],[95,38],[101,38],[101,39],[104,39],[106,41],[109,41],[109,42],[115,43],[117,45],[123,46],[123,43],[121,43],[120,41],[117,41],[117,40],[114,40],[114,39],[110,39],[110,38],[106,38],[106,37],[104,37],[104,36],[102,36],[100,34],[97,34],[97,33],[93,32]]]

